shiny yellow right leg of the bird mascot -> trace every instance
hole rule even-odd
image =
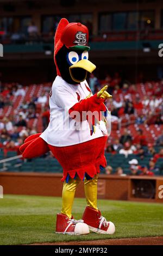
[[[84,180],[84,191],[87,206],[98,210],[97,208],[97,179],[98,176],[95,175],[91,180]]]

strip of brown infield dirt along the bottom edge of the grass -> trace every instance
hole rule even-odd
[[[163,245],[163,236],[105,239],[91,241],[33,243],[32,245]]]

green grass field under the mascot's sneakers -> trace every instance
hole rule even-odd
[[[163,236],[163,204],[98,200],[102,214],[115,223],[114,235],[55,234],[55,217],[61,198],[4,195],[0,199],[0,245]],[[75,199],[74,218],[82,218],[85,199]]]

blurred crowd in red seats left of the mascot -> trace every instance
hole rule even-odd
[[[39,96],[30,97],[29,95],[26,100],[27,88],[25,89],[21,84],[5,84],[2,88],[0,94],[0,148],[3,149],[4,156],[7,156],[8,151],[17,151],[17,154],[20,154],[18,148],[23,144],[24,139],[37,133],[35,121],[41,117],[42,130],[45,130],[49,123],[48,92],[42,90]],[[18,105],[17,102],[13,102],[14,99],[20,101]],[[15,105],[17,107],[12,109]],[[33,125],[30,125],[30,121]]]

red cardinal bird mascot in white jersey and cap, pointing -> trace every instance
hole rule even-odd
[[[51,150],[63,168],[62,209],[56,225],[56,232],[61,234],[115,232],[114,224],[106,221],[97,208],[98,173],[106,166],[107,136],[101,129],[106,119],[101,113],[106,113],[104,101],[111,95],[106,92],[107,86],[92,95],[85,80],[87,72],[96,68],[88,60],[88,39],[87,27],[60,20],[54,39],[57,77],[49,94],[50,122],[44,132],[29,136],[20,147],[27,159]],[[94,112],[90,120],[89,113]],[[77,221],[71,211],[80,180],[84,181],[87,206],[82,220]]]

